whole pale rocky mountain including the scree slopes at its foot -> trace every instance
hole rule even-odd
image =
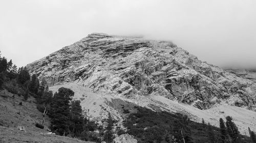
[[[50,90],[72,89],[96,120],[111,112],[122,126],[122,108],[139,105],[216,126],[230,115],[240,130],[256,130],[256,83],[169,41],[93,33],[27,68],[45,78]]]

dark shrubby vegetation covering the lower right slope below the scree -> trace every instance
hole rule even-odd
[[[220,128],[190,121],[180,113],[155,112],[138,106],[135,108],[137,112],[130,114],[124,126],[128,129],[127,133],[134,135],[138,142],[223,142]],[[236,128],[230,118],[226,124]],[[250,142],[248,137],[233,134],[228,128],[224,125],[225,137],[228,138],[226,142]],[[238,141],[231,135],[241,139]]]

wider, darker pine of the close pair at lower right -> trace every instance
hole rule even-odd
[[[232,122],[232,118],[230,116],[226,117],[226,128],[227,133],[231,137],[233,143],[240,142],[240,135],[238,131],[238,127],[234,122]]]

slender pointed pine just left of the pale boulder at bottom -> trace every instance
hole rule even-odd
[[[111,118],[111,115],[109,113],[109,119],[108,119],[108,126],[106,126],[106,129],[105,129],[105,133],[104,133],[104,141],[106,141],[106,143],[110,143],[112,142],[113,140],[113,124],[114,124],[114,121],[112,120]]]

